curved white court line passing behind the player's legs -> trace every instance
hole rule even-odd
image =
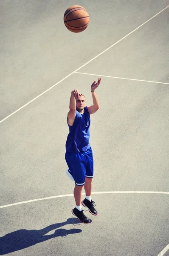
[[[94,195],[94,194],[166,194],[166,195],[169,195],[169,192],[161,192],[161,191],[103,191],[103,192],[93,192],[92,195]],[[85,193],[82,193],[82,195],[85,195]],[[18,204],[28,204],[28,203],[32,203],[32,202],[36,202],[36,201],[43,201],[43,200],[68,197],[68,196],[73,196],[73,194],[54,195],[54,196],[49,196],[46,198],[37,198],[37,199],[18,202],[18,203],[14,203],[14,204],[2,205],[2,206],[0,206],[0,208],[6,208],[6,207],[18,205]]]

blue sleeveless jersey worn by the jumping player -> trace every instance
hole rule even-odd
[[[67,152],[85,151],[90,148],[90,114],[86,106],[83,114],[76,110],[73,125],[68,125],[68,127],[69,134],[66,141]]]

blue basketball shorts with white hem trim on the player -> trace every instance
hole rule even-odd
[[[85,184],[85,177],[93,178],[93,152],[91,147],[79,153],[66,152],[65,160],[68,165],[68,172],[77,186]]]

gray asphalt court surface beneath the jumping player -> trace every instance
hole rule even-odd
[[[82,33],[63,23],[73,4],[90,15]],[[168,5],[1,1],[0,120]],[[169,7],[0,123],[0,206],[68,195],[1,207],[0,255],[169,256],[168,45]],[[90,143],[99,214],[87,212],[86,225],[71,214],[67,113],[75,88],[92,104],[90,85],[98,77],[100,109],[91,116]]]

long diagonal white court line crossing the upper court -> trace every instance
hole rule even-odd
[[[107,49],[105,49],[103,52],[99,53],[96,57],[92,58],[90,61],[86,62],[84,65],[82,65],[81,67],[79,67],[78,69],[76,69],[75,71],[73,71],[72,73],[70,73],[68,76],[65,76],[65,78],[63,78],[62,80],[60,80],[59,82],[57,82],[56,84],[54,84],[53,86],[51,86],[50,88],[48,88],[48,90],[51,90],[53,87],[55,87],[57,84],[61,83],[62,81],[64,81],[65,79],[67,79],[69,76],[71,76],[73,73],[75,73],[76,71],[78,71],[79,69],[81,69],[82,67],[85,67],[88,63],[90,63],[91,61],[93,61],[94,59],[96,59],[97,57],[99,57],[101,54],[103,54],[104,52],[106,52],[107,50],[109,50],[111,47],[115,46],[116,44],[118,44],[119,42],[121,42],[124,38],[127,38],[127,36],[129,36],[130,34],[132,34],[133,32],[135,32],[137,29],[139,29],[141,26],[143,26],[144,24],[146,24],[147,22],[149,22],[150,20],[152,20],[154,17],[156,17],[158,14],[160,14],[161,12],[163,12],[165,9],[167,9],[169,7],[166,6],[163,10],[161,10],[160,12],[158,12],[157,14],[155,14],[154,16],[152,16],[149,20],[145,21],[144,23],[142,23],[140,26],[138,26],[136,29],[132,30],[132,32],[130,32],[129,34],[125,35],[123,38],[121,38],[120,40],[118,40],[115,44],[111,45],[110,47],[108,47]],[[2,119],[0,121],[3,122],[5,121],[7,118],[9,118],[10,116],[14,115],[15,113],[17,113],[18,111],[20,111],[22,108],[24,108],[25,106],[27,106],[28,104],[30,104],[31,102],[33,102],[35,99],[39,98],[40,96],[42,96],[44,93],[48,92],[48,90],[45,90],[43,93],[39,94],[37,97],[35,97],[34,99],[32,99],[30,102],[26,103],[25,105],[23,105],[21,108],[18,108],[16,111],[14,111],[13,113],[11,113],[10,115],[6,116],[4,119]]]

